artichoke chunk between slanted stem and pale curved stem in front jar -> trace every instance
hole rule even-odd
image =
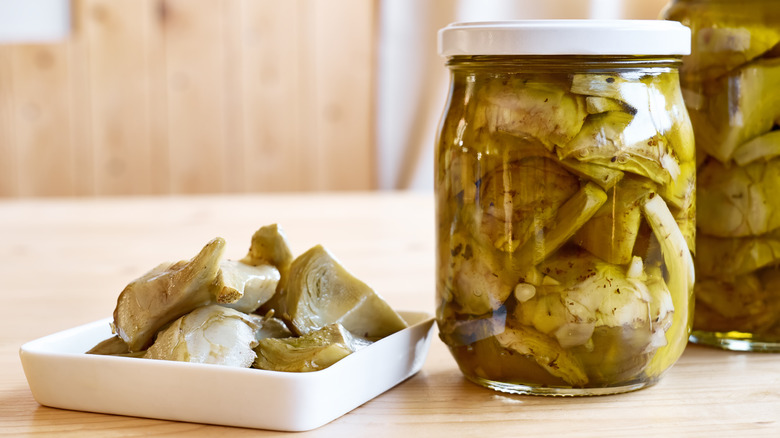
[[[574,241],[609,263],[627,264],[639,234],[640,203],[654,188],[644,178],[624,178],[607,192],[607,201],[577,231]]]

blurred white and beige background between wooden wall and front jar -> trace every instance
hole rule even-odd
[[[666,2],[382,0],[377,121],[379,187],[433,188],[433,145],[448,86],[444,60],[437,56],[435,43],[436,32],[447,22],[655,19]],[[412,168],[405,169],[402,163],[411,163]]]

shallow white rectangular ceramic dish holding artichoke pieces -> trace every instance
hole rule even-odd
[[[84,354],[111,337],[110,319],[21,347],[33,397],[44,406],[226,426],[303,431],[322,426],[411,377],[428,354],[433,318],[310,373]]]

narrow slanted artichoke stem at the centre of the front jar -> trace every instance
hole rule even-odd
[[[555,217],[537,230],[538,238],[530,239],[518,249],[516,266],[536,266],[563,246],[607,202],[607,194],[588,182],[556,211]]]

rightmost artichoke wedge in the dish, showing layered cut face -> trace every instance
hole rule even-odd
[[[328,324],[378,339],[406,322],[368,285],[355,278],[321,245],[298,256],[279,286],[282,316],[305,335]]]

